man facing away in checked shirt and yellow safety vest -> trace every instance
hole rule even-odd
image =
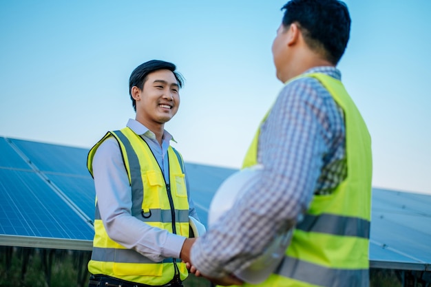
[[[244,167],[262,164],[262,176],[196,240],[191,271],[242,284],[235,271],[277,232],[295,228],[282,262],[260,286],[366,287],[370,136],[335,67],[349,39],[348,9],[337,0],[292,0],[282,9],[272,52],[286,85],[244,159]]]

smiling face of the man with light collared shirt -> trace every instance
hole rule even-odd
[[[171,120],[180,105],[180,87],[169,70],[148,74],[143,89],[132,87],[136,100],[136,120],[151,129]]]

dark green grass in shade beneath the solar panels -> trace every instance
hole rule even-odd
[[[90,274],[89,251],[63,251],[0,246],[0,287],[83,287]],[[49,266],[52,266],[49,268]],[[211,283],[193,274],[185,287],[211,287]],[[397,270],[371,269],[371,287],[401,287]],[[424,285],[425,286],[425,285]]]

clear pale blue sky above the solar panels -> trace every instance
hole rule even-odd
[[[90,148],[134,110],[132,70],[185,76],[166,129],[188,162],[239,168],[282,88],[285,1],[0,2],[0,136]],[[431,193],[431,1],[349,0],[343,81],[372,135],[373,186]]]

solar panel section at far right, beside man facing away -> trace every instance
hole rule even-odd
[[[373,189],[370,237],[379,245],[370,245],[370,259],[429,264],[430,206],[429,195]]]

